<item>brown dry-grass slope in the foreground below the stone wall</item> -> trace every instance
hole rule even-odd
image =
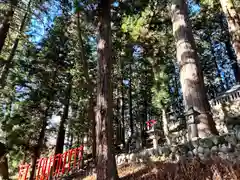
[[[118,167],[121,180],[240,180],[240,164],[232,164],[218,157],[202,161],[147,162],[124,164]],[[84,180],[95,180],[95,176]]]

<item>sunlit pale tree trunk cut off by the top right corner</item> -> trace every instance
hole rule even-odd
[[[237,57],[237,66],[240,68],[240,16],[232,0],[220,0],[222,10],[227,18],[228,29],[232,39],[233,49]],[[239,75],[238,75],[239,76]],[[237,76],[239,82],[240,77]]]

